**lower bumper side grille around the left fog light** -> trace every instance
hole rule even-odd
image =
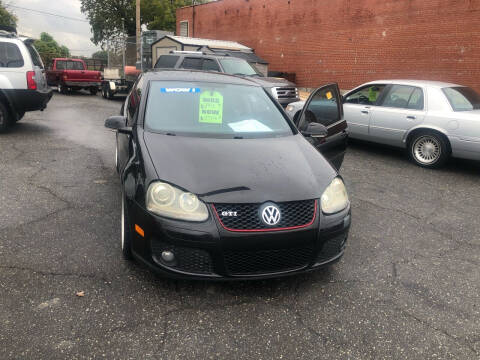
[[[162,260],[161,254],[164,250],[173,252],[175,255],[173,262],[167,263]],[[175,270],[195,274],[211,274],[213,272],[210,254],[202,249],[152,241],[152,255],[158,263]]]

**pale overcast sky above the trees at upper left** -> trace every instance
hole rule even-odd
[[[80,0],[3,0],[2,2],[9,11],[17,16],[17,32],[19,34],[38,38],[41,32],[47,32],[60,45],[68,47],[72,55],[90,56],[100,50],[90,41],[92,33],[88,22],[74,21],[8,6],[14,5],[87,20],[85,15],[80,12]]]

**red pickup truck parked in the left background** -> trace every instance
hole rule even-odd
[[[47,70],[47,82],[57,86],[58,91],[66,94],[69,91],[89,90],[96,95],[102,83],[100,71],[87,70],[82,59],[53,59]]]

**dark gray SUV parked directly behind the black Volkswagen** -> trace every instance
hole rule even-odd
[[[247,61],[233,56],[198,51],[172,51],[169,55],[158,58],[155,69],[191,69],[248,76],[271,92],[283,107],[300,100],[294,83],[281,78],[264,77]]]

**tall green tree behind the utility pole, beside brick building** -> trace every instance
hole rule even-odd
[[[122,34],[135,35],[135,0],[80,0],[92,28],[92,42],[104,45]],[[141,22],[150,30],[175,30],[176,9],[210,0],[141,0]]]

